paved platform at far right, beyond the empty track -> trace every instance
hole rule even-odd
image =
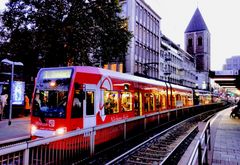
[[[219,112],[211,122],[209,164],[240,165],[240,119],[230,118],[232,108]]]

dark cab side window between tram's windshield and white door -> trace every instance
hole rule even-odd
[[[73,106],[72,106],[72,118],[78,118],[83,116],[83,98],[82,93],[75,91]]]

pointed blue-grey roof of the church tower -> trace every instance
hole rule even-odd
[[[187,29],[185,30],[185,33],[195,32],[195,31],[203,31],[203,30],[208,31],[208,28],[203,20],[203,17],[201,15],[199,9],[197,8],[194,15],[192,16],[190,23],[187,26]]]

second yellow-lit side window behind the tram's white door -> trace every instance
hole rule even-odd
[[[122,111],[132,111],[132,94],[131,92],[122,92],[121,107]]]

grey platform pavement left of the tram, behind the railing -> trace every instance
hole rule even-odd
[[[0,121],[0,144],[18,141],[30,137],[30,117],[19,117]]]

